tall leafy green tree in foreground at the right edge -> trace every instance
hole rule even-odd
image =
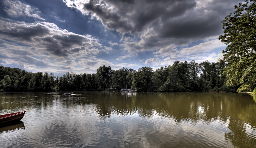
[[[239,85],[238,92],[256,87],[256,0],[246,0],[235,6],[222,21],[224,35],[219,40],[227,45],[223,50],[227,85]]]

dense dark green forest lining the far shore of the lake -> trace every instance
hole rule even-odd
[[[139,92],[236,92],[239,86],[227,86],[223,70],[226,64],[194,60],[176,61],[156,71],[151,67],[112,70],[100,66],[94,74],[67,72],[61,77],[54,73],[27,72],[19,68],[0,66],[0,90],[4,92],[38,91],[118,91],[136,88]]]

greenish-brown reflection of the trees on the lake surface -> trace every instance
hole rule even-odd
[[[56,106],[65,109],[78,107],[87,112],[85,106],[88,105],[93,105],[101,121],[116,114],[138,114],[146,119],[160,116],[177,124],[214,121],[230,129],[225,138],[233,146],[256,145],[256,138],[253,138],[253,133],[256,133],[256,97],[248,94],[84,92],[72,96],[47,96],[43,93],[5,93],[1,96],[0,113],[23,108],[54,110]],[[248,132],[248,129],[253,132]]]

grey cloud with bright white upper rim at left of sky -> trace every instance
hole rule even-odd
[[[5,22],[1,20],[1,39],[13,40],[32,47],[44,48],[57,56],[67,56],[92,47],[101,47],[97,39],[59,29],[53,23]],[[69,50],[71,49],[71,50]]]

